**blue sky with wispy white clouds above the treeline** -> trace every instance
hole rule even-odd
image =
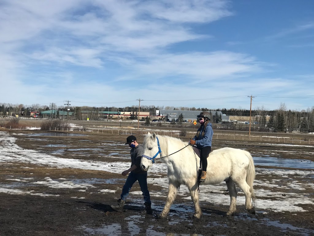
[[[0,102],[306,110],[314,2],[1,1]]]

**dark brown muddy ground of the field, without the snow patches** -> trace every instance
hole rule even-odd
[[[106,150],[95,153],[103,141],[125,142],[127,135],[89,134],[82,137],[41,136],[30,137],[16,135],[17,131],[10,131],[17,138],[16,144],[24,149],[34,149],[40,153],[56,155],[59,144],[67,143],[63,152],[64,158],[84,160],[101,160]],[[23,131],[21,131],[23,132]],[[39,132],[39,131],[33,131]],[[24,132],[24,133],[33,133]],[[143,137],[138,137],[141,143]],[[56,144],[56,147],[54,145]],[[254,142],[226,142],[215,140],[214,149],[225,146],[245,148],[254,153],[268,155],[275,152],[283,158],[305,159],[313,161],[313,146],[282,147],[271,146],[267,143]],[[86,148],[81,153],[71,152],[71,148]],[[88,148],[88,149],[87,149]],[[294,155],[286,154],[287,149],[293,149]],[[129,149],[126,147],[126,153]],[[279,153],[279,154],[278,154]],[[60,157],[60,156],[59,156]],[[106,161],[117,161],[106,157]],[[129,160],[126,158],[126,161]],[[314,162],[313,162],[314,163]],[[0,235],[314,235],[314,205],[302,205],[305,212],[273,212],[257,211],[255,215],[248,214],[244,206],[238,205],[237,213],[233,217],[226,216],[228,206],[215,205],[201,201],[203,216],[194,219],[191,200],[177,196],[167,219],[157,216],[165,204],[164,197],[151,197],[153,215],[147,215],[141,195],[129,195],[125,206],[126,211],[116,213],[110,205],[115,205],[119,198],[126,177],[118,173],[105,171],[80,170],[70,168],[52,168],[51,166],[34,165],[21,162],[0,163],[0,188],[4,186],[18,188],[24,192],[51,194],[51,196],[37,196],[31,194],[0,193]],[[313,164],[314,165],[314,164]],[[272,167],[273,168],[273,167]],[[287,168],[281,168],[287,169]],[[310,170],[311,171],[311,170]],[[57,180],[64,178],[72,181],[89,180],[95,188],[86,192],[73,189],[47,188],[45,185],[31,185],[16,183],[8,179],[33,178],[32,182],[42,181],[46,177]],[[257,175],[256,179],[268,179],[267,175]],[[295,176],[294,180],[302,177]],[[269,180],[273,177],[269,177]],[[101,193],[99,189],[116,189],[116,193]],[[149,184],[151,191],[165,191],[160,186]],[[313,196],[313,189],[306,190]],[[138,183],[131,191],[140,191]],[[296,191],[296,190],[295,190]],[[302,191],[304,193],[304,191]],[[227,194],[227,193],[225,193]],[[53,196],[59,195],[59,196]],[[257,199],[258,200],[258,199]]]

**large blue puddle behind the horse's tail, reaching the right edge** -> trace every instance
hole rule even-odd
[[[254,164],[259,166],[290,167],[297,169],[314,169],[310,160],[284,159],[281,157],[253,157]]]

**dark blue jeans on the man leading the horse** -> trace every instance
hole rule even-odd
[[[129,195],[130,189],[132,188],[133,184],[138,181],[139,186],[141,187],[141,191],[143,192],[144,202],[151,203],[149,191],[147,188],[147,172],[143,174],[135,174],[132,171],[130,172],[129,176],[127,177],[127,181],[125,182],[122,188],[121,199],[125,201],[127,196]]]

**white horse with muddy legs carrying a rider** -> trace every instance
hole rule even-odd
[[[168,167],[169,189],[166,204],[160,217],[166,217],[169,213],[181,184],[186,185],[190,191],[195,207],[194,217],[200,218],[202,216],[197,180],[200,158],[195,155],[192,146],[187,145],[188,143],[184,143],[178,138],[157,136],[155,133],[148,133],[144,138],[141,168],[148,171],[157,159],[162,160]],[[201,184],[226,182],[230,195],[230,208],[227,215],[233,215],[236,212],[237,190],[235,183],[245,194],[245,209],[249,213],[255,214],[255,209],[251,203],[252,199],[253,205],[256,205],[253,190],[255,167],[251,154],[241,149],[222,148],[211,152],[207,161],[206,181]]]

